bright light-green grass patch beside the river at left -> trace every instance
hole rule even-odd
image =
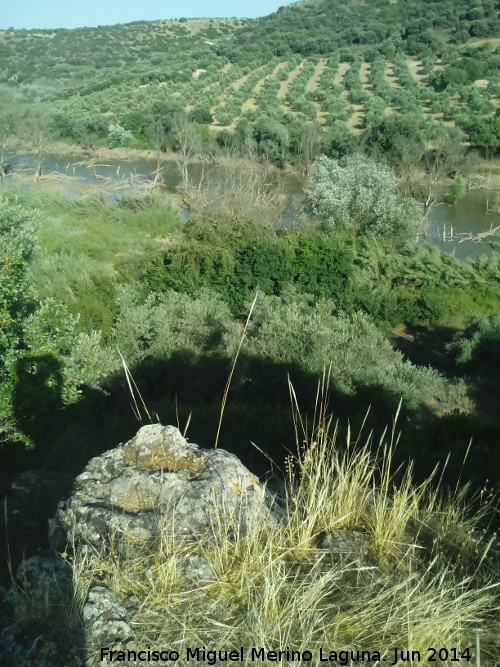
[[[73,199],[56,191],[6,192],[44,217],[30,267],[38,298],[60,299],[80,315],[82,329],[104,334],[113,323],[110,304],[122,274],[132,279],[134,260],[171,243],[183,225],[159,194],[112,204],[99,194]]]

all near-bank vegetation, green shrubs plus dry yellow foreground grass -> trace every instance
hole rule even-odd
[[[227,639],[230,629],[233,641],[242,645],[253,644],[256,636],[265,643],[279,623],[282,636],[293,633],[290,644],[315,647],[318,633],[329,636],[323,623],[328,618],[335,636],[346,642],[367,641],[366,628],[374,623],[373,632],[389,641],[404,635],[411,623],[413,641],[423,642],[422,647],[431,639],[453,640],[465,650],[473,645],[473,614],[483,629],[482,664],[493,665],[494,561],[491,554],[484,557],[486,543],[480,544],[473,530],[491,525],[494,506],[483,498],[478,513],[471,515],[467,484],[447,501],[430,489],[432,469],[447,457],[448,466],[440,467],[439,474],[452,488],[463,479],[485,485],[488,495],[498,481],[493,475],[500,429],[490,396],[499,389],[500,254],[463,262],[376,227],[372,231],[378,235],[339,232],[321,215],[315,224],[290,229],[218,218],[185,221],[158,193],[110,204],[100,196],[70,199],[50,191],[3,188],[2,471],[11,475],[40,467],[57,471],[57,481],[49,492],[44,487],[43,496],[33,488],[24,500],[25,514],[9,516],[4,527],[9,547],[2,560],[15,563],[30,545],[43,544],[44,519],[74,474],[90,457],[135,433],[137,420],[116,348],[153,419],[187,426],[191,439],[211,446],[227,377],[242,343],[219,445],[261,472],[269,461],[258,449],[278,466],[287,457],[283,502],[295,510],[290,524],[276,524],[271,534],[255,526],[241,543],[202,546],[219,577],[212,596],[225,614],[224,637],[212,636],[212,641]],[[415,336],[419,330],[437,333],[432,349],[415,363],[408,357],[418,357],[418,343],[403,354],[390,334],[391,326],[409,323]],[[386,425],[398,411],[400,421],[388,436]],[[334,427],[337,417],[340,423]],[[303,433],[297,430],[299,422]],[[394,452],[388,438],[397,439],[399,426],[402,437]],[[370,431],[375,442],[384,443],[381,449],[373,446]],[[297,451],[295,457],[291,450]],[[398,471],[401,462],[404,472]],[[425,481],[415,485],[413,475]],[[372,485],[379,493],[367,510],[359,502],[359,489]],[[390,506],[389,496],[394,497]],[[329,589],[323,576],[316,579],[314,573],[322,570],[311,561],[322,526],[366,533],[363,558],[369,565],[363,571],[369,573],[375,564],[380,573],[360,579],[357,561],[353,566],[328,564],[328,577],[349,584],[349,604],[341,617],[332,598],[319,595]],[[82,552],[71,560],[74,589],[61,588],[57,603],[43,603],[39,592],[16,588],[16,618],[27,627],[36,622],[50,635],[57,614],[62,619],[58,636],[69,633],[81,642],[75,600],[99,581],[111,590],[134,593],[143,603],[147,622],[140,616],[144,625],[135,631],[145,644],[153,644],[151,637],[158,633],[171,641],[165,605],[175,610],[179,593],[186,595],[192,604],[187,612],[182,607],[183,637],[194,641],[194,618],[205,618],[206,610],[198,606],[200,596],[193,595],[192,584],[174,576],[183,544],[167,540],[160,551],[147,555],[134,548],[125,559]],[[258,554],[264,555],[262,562]],[[283,562],[293,567],[293,575],[284,575]],[[312,570],[311,562],[316,563]],[[144,579],[145,563],[158,576]],[[268,578],[273,596],[287,610],[270,626],[264,621],[275,610],[274,597],[268,606],[266,597],[236,594],[249,590],[242,582],[248,583],[256,563],[256,590],[262,577]],[[299,588],[297,571],[304,575]],[[226,608],[228,588],[235,593]],[[338,590],[342,597],[343,589]],[[329,603],[328,616],[318,616],[315,605],[302,605],[315,591],[319,602]],[[387,596],[397,600],[398,610],[407,605],[404,623],[399,612],[388,613]],[[367,607],[369,619],[362,617],[359,625]],[[84,650],[78,642],[72,644],[76,652],[91,651],[91,643]]]

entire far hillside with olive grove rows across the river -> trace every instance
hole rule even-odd
[[[82,145],[105,142],[111,122],[147,147],[152,118],[168,134],[165,119],[185,113],[222,146],[250,123],[279,161],[301,153],[304,126],[342,144],[400,114],[496,151],[499,25],[492,0],[307,0],[255,20],[7,30],[0,82],[41,99],[56,133]]]

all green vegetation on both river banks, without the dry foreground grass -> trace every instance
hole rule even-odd
[[[480,351],[483,338],[496,340],[494,322],[467,318],[498,309],[498,253],[464,263],[414,240],[425,224],[422,206],[427,214],[462,196],[479,169],[478,152],[488,158],[498,151],[497,29],[490,0],[307,0],[255,21],[2,31],[0,178],[20,146],[35,155],[38,178],[44,155],[63,139],[90,150],[153,148],[159,185],[161,154],[172,149],[192,214],[183,221],[161,196],[111,205],[99,196],[72,201],[5,191],[6,451],[15,441],[43,451],[41,442],[66,442],[68,428],[84,433],[88,424],[75,423],[85,422],[78,406],[88,392],[113,412],[109,401],[122,395],[116,345],[165,419],[172,418],[168,396],[179,414],[196,404],[200,425],[213,422],[213,387],[223,387],[256,290],[232,409],[262,422],[266,446],[286,442],[285,431],[266,421],[276,415],[271,402],[287,422],[286,374],[293,370],[310,387],[333,363],[331,388],[345,414],[359,417],[375,402],[372,419],[382,423],[401,397],[419,414],[406,454],[421,447],[425,428],[429,461],[438,459],[436,424],[450,420],[457,451],[477,428],[485,434],[478,447],[490,451],[491,406],[470,370],[466,341]],[[189,162],[214,158],[227,160],[232,176],[192,187]],[[302,223],[276,229],[263,222],[276,225],[280,214],[261,165],[290,162],[306,180],[313,169],[314,177]],[[472,333],[460,338],[456,329],[466,325]],[[391,327],[399,327],[395,342],[418,365],[391,347]],[[440,328],[439,342],[432,341],[439,353],[408,346],[415,336],[408,327],[422,345],[426,328]],[[435,369],[422,368],[428,363]],[[200,380],[205,367],[213,383]],[[34,400],[39,392],[43,398]],[[28,415],[33,401],[38,417]],[[242,407],[254,402],[258,416]],[[451,417],[454,408],[461,412]],[[57,434],[42,426],[54,410]],[[429,416],[435,413],[441,421]],[[245,420],[229,410],[231,419],[244,433]],[[480,462],[475,472],[490,468]]]

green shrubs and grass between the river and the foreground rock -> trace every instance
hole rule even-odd
[[[7,189],[1,205],[6,460],[19,460],[18,440],[35,446],[27,455],[39,463],[62,448],[64,465],[78,466],[88,450],[67,449],[68,438],[88,439],[89,429],[94,446],[106,446],[107,429],[94,433],[87,411],[92,405],[119,418],[128,401],[116,346],[164,421],[193,411],[193,432],[210,439],[257,291],[223,444],[240,441],[239,453],[248,455],[243,443],[252,432],[281,456],[291,427],[287,376],[298,381],[307,409],[318,374],[331,366],[336,410],[355,422],[372,404],[370,421],[382,427],[403,400],[415,422],[401,454],[424,447],[422,473],[450,451],[452,478],[469,438],[490,433],[478,438],[485,458],[470,472],[491,480],[497,436],[489,439],[487,387],[498,360],[492,352],[477,379],[470,364],[497,344],[497,322],[488,318],[498,311],[498,253],[463,262],[412,241],[332,232],[320,220],[291,229],[234,217],[182,221],[159,195],[109,204]],[[479,315],[485,319],[452,337]],[[452,325],[440,343],[440,372],[418,354],[420,365],[410,363],[388,337],[392,327],[423,331],[430,323]],[[424,358],[434,361],[431,351]],[[51,414],[58,417],[47,428]],[[122,424],[126,432],[127,419]],[[445,424],[456,425],[455,441],[441,440]]]

